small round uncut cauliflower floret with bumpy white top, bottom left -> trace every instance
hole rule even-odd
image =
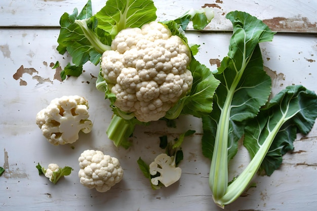
[[[81,184],[89,189],[106,192],[123,178],[123,169],[117,158],[104,155],[99,150],[85,150],[78,158]]]

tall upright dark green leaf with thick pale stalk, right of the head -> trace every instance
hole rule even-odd
[[[259,43],[272,40],[274,33],[248,13],[234,11],[226,18],[233,25],[229,52],[215,75],[220,85],[213,112],[203,117],[203,154],[212,158],[209,183],[215,201],[226,192],[228,160],[235,155],[244,131],[240,122],[256,116],[271,92]]]

